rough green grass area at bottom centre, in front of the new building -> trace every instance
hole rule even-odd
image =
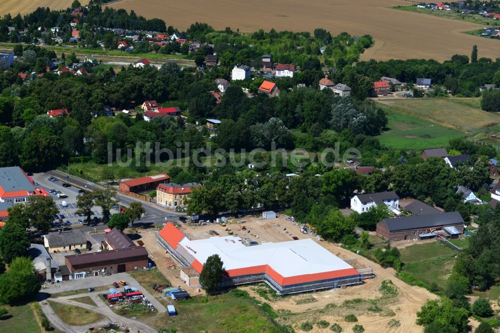
[[[245,297],[232,292],[205,297],[197,296],[175,302],[177,315],[156,316],[149,323],[155,327],[182,329],[184,332],[269,332],[277,328]]]

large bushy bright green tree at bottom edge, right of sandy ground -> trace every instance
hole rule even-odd
[[[468,311],[462,307],[454,307],[451,299],[442,297],[439,299],[427,300],[416,312],[416,323],[418,325],[428,325],[437,321],[441,326],[451,325],[459,332],[467,330]]]

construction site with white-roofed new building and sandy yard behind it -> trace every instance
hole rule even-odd
[[[277,294],[291,294],[374,277],[372,268],[355,258],[339,258],[305,230],[290,218],[221,218],[181,226],[168,222],[156,239],[180,266],[179,277],[188,287],[199,286],[203,263],[212,254],[224,264],[222,287],[264,282]]]

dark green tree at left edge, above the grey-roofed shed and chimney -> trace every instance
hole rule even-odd
[[[10,263],[15,257],[26,253],[28,248],[26,228],[9,219],[0,230],[0,254],[3,261]]]

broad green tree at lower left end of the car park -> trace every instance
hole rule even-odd
[[[52,224],[52,219],[59,210],[50,196],[31,195],[28,197],[24,213],[29,218],[29,224],[46,233]]]

